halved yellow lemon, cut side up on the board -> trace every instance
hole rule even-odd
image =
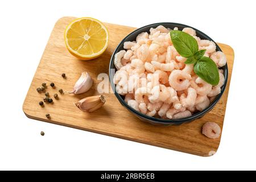
[[[97,19],[78,18],[67,26],[64,40],[73,56],[81,60],[90,60],[104,53],[108,47],[109,32]]]

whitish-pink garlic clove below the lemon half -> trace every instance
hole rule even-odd
[[[77,80],[76,84],[73,87],[72,92],[74,94],[81,94],[87,92],[92,87],[93,81],[92,77],[90,77],[89,73],[82,72],[79,80]]]

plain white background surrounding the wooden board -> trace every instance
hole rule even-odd
[[[256,169],[253,3],[1,1],[0,169]],[[217,154],[203,158],[26,118],[24,98],[52,28],[62,16],[92,16],[133,27],[178,22],[232,46],[234,69]]]

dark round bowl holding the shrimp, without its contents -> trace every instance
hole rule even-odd
[[[121,43],[118,44],[117,48],[115,48],[115,51],[113,52],[113,55],[112,55],[111,60],[110,60],[109,78],[110,78],[110,83],[111,83],[111,86],[112,86],[113,90],[115,90],[115,84],[113,83],[114,72],[110,71],[110,70],[111,69],[115,69],[115,71],[117,71],[117,69],[114,66],[114,55],[115,55],[115,53],[117,53],[117,52],[119,52],[119,51],[121,51],[123,49],[123,43],[124,42],[126,42],[126,41],[134,41],[134,40],[136,40],[137,35],[140,34],[141,32],[148,32],[149,33],[150,32],[150,28],[156,28],[159,25],[162,25],[162,26],[164,26],[166,28],[171,28],[171,29],[174,29],[175,27],[178,27],[179,30],[182,30],[185,27],[190,27],[190,26],[187,26],[185,24],[179,24],[179,23],[168,23],[168,22],[154,23],[154,24],[149,24],[147,26],[138,28],[137,30],[135,30],[135,31],[131,32],[129,35],[127,35],[121,41]],[[193,28],[193,27],[191,27],[191,28]],[[196,35],[199,36],[199,38],[212,40],[208,35],[204,34],[203,32],[197,30],[196,28],[193,28],[193,29],[196,30]],[[217,49],[217,51],[221,51],[220,47],[218,47],[217,44],[216,44],[216,49]],[[142,114],[139,111],[134,110],[132,107],[127,105],[126,102],[124,101],[124,97],[119,95],[117,92],[115,92],[114,94],[117,97],[117,99],[119,100],[119,102],[123,106],[125,106],[127,110],[129,110],[131,113],[136,115],[142,121],[150,122],[152,124],[179,125],[181,123],[191,122],[191,121],[193,121],[195,119],[203,117],[206,113],[208,113],[210,110],[212,110],[213,107],[217,104],[217,102],[220,100],[222,94],[224,93],[224,90],[226,88],[226,83],[228,81],[228,65],[226,64],[221,69],[223,69],[223,74],[224,74],[224,77],[225,77],[225,83],[224,83],[224,85],[221,88],[221,93],[218,94],[218,96],[216,96],[216,98],[210,103],[210,105],[206,109],[204,109],[204,110],[202,110],[202,111],[200,111],[198,113],[195,113],[191,117],[187,117],[187,118],[181,118],[181,119],[161,119],[161,118],[149,117],[148,115]]]

